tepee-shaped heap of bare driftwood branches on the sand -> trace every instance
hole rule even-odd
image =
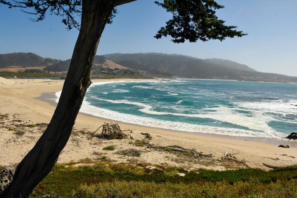
[[[120,126],[118,126],[118,123],[104,123],[102,124],[96,131],[93,132],[92,136],[94,135],[100,128],[102,127],[102,131],[100,135],[97,135],[101,138],[106,138],[108,140],[111,139],[123,139],[126,138],[127,135],[123,133],[123,131],[130,131],[132,130],[122,130]]]

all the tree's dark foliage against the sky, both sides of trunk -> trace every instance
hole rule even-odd
[[[131,1],[117,1],[113,6]],[[80,29],[80,21],[77,20],[77,17],[80,17],[82,13],[82,0],[0,0],[0,3],[8,5],[10,8],[31,9],[22,11],[38,16],[37,19],[31,19],[32,21],[43,20],[46,12],[49,12],[50,15],[62,16],[62,23],[67,26],[67,29],[70,30],[73,27]],[[157,32],[155,36],[157,39],[162,36],[171,36],[173,42],[183,43],[186,40],[190,42],[210,39],[222,41],[226,37],[246,35],[242,31],[236,31],[236,26],[226,26],[224,25],[225,21],[218,19],[215,10],[224,8],[224,6],[217,4],[214,0],[164,0],[163,3],[157,1],[155,3],[173,14],[173,18],[166,22],[166,27],[162,27]],[[110,13],[108,24],[112,23],[115,14],[117,14],[116,8]]]

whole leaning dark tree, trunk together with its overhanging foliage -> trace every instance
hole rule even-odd
[[[1,198],[28,197],[34,187],[50,172],[66,145],[84,95],[91,84],[89,78],[97,46],[105,24],[111,23],[116,6],[135,0],[0,0],[0,3],[19,7],[22,11],[36,15],[33,21],[41,21],[46,13],[62,16],[68,29],[77,28],[77,38],[65,79],[60,100],[49,126],[33,149],[16,168],[14,179],[0,195]],[[224,40],[226,37],[245,35],[226,26],[215,15],[223,6],[214,0],[164,0],[155,2],[173,14],[156,34],[156,38],[171,36],[172,41],[196,42],[210,39]],[[80,20],[77,20],[78,18]]]

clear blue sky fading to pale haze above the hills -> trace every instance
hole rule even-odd
[[[160,0],[161,1],[161,0]],[[197,58],[223,58],[246,64],[257,71],[297,76],[296,0],[217,0],[217,11],[227,25],[237,25],[248,36],[220,41],[174,44],[153,36],[170,19],[154,0],[138,0],[118,6],[113,24],[107,24],[97,54],[161,52]],[[41,22],[0,5],[0,54],[32,52],[42,57],[71,58],[78,30],[67,31],[61,17],[46,16]]]

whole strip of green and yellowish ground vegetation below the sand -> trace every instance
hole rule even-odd
[[[292,197],[297,198],[297,166],[271,171],[192,170],[141,163],[97,162],[94,166],[56,164],[31,197]],[[179,176],[178,173],[184,173]]]

